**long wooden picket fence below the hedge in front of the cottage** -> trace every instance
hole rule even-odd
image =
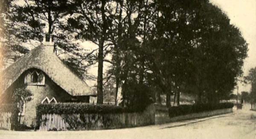
[[[117,114],[43,114],[40,131],[75,131],[127,128],[154,125],[155,109],[148,106],[143,112]]]

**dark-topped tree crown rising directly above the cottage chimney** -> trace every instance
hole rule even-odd
[[[15,5],[16,22],[29,25],[27,31],[21,32],[24,39],[43,40],[44,31],[55,33],[60,19],[70,9],[67,0],[22,0],[22,4]],[[29,35],[28,35],[29,33]]]

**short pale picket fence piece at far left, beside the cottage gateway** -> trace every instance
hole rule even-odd
[[[0,129],[11,130],[11,112],[0,112]]]

